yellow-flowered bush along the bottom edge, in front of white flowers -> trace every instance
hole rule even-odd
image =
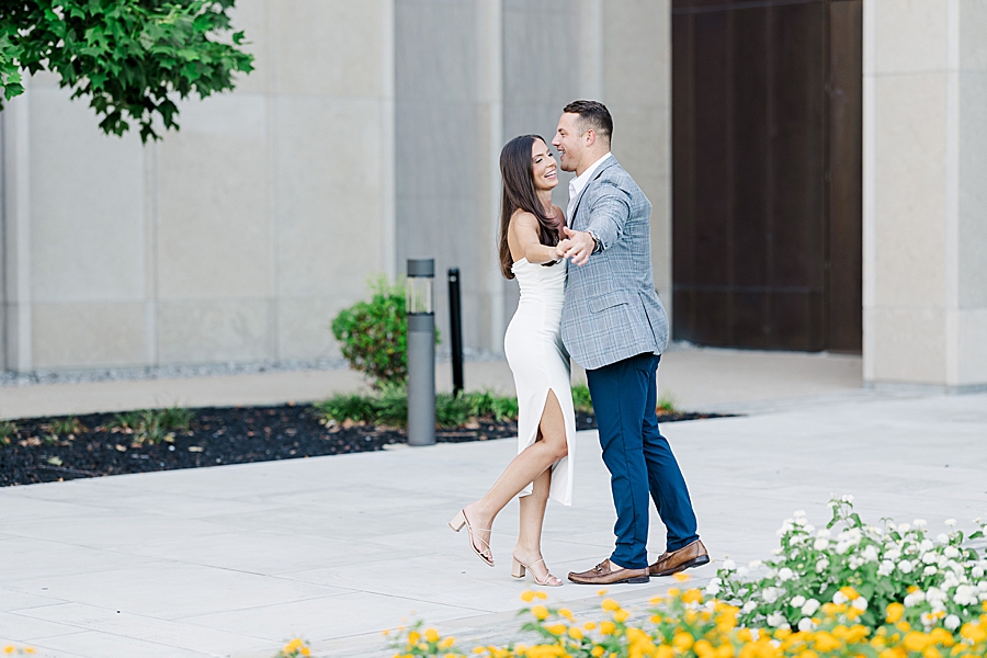
[[[680,580],[688,577],[680,576]],[[603,592],[601,592],[602,594]],[[543,592],[525,592],[532,602]],[[470,655],[488,658],[945,658],[987,656],[987,612],[951,633],[943,627],[915,628],[898,617],[895,608],[871,628],[860,615],[827,609],[818,624],[806,631],[746,628],[738,625],[740,611],[707,598],[699,589],[672,588],[651,600],[646,620],[613,599],[604,599],[601,619],[580,622],[565,608],[537,603],[521,611],[531,621],[524,629],[538,639],[504,647],[480,646]],[[897,617],[897,619],[896,619]],[[434,628],[417,625],[400,632],[393,645],[395,658],[465,658],[454,637],[442,637]]]

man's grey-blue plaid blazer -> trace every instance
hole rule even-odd
[[[615,158],[600,164],[569,218],[592,229],[600,250],[582,266],[569,264],[563,343],[587,370],[668,344],[668,315],[651,272],[651,202]]]

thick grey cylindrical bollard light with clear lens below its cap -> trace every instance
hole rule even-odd
[[[408,259],[408,445],[435,443],[435,261]]]

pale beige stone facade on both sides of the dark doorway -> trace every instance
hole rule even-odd
[[[463,271],[499,352],[498,157],[597,98],[655,207],[671,306],[668,0],[240,0],[257,71],[180,133],[103,136],[49,76],[0,114],[2,366],[307,360],[367,280]],[[875,385],[987,383],[987,3],[864,0],[864,363]],[[580,48],[574,47],[579,43]],[[564,205],[568,178],[559,185]],[[670,309],[673,310],[673,309]]]

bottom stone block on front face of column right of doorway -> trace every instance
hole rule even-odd
[[[877,350],[875,379],[944,384],[945,311],[938,308],[876,308],[871,330]]]

